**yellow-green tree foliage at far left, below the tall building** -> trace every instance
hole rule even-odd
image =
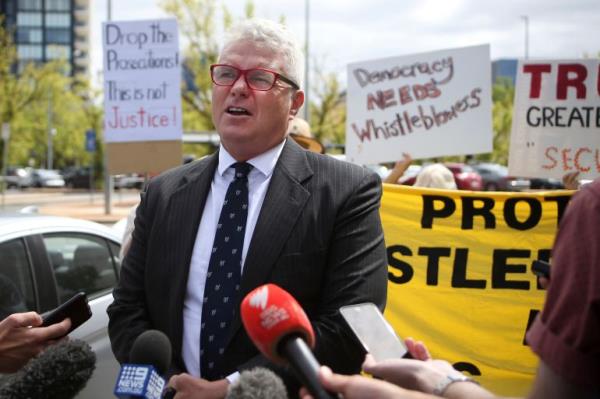
[[[85,130],[98,131],[101,121],[88,83],[65,76],[64,62],[29,64],[18,75],[11,70],[15,62],[11,33],[0,27],[0,121],[11,127],[8,164],[46,166],[48,134],[55,128],[53,167],[88,165]]]

